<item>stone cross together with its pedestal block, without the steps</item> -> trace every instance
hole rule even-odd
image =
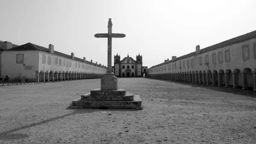
[[[108,20],[108,34],[95,34],[97,38],[108,38],[108,72],[101,79],[101,90],[117,90],[117,77],[112,71],[112,38],[122,38],[125,34],[112,34],[112,22]]]

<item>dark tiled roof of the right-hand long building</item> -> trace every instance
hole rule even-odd
[[[218,48],[223,48],[225,46],[228,46],[228,45],[233,45],[233,44],[236,44],[236,43],[239,43],[239,42],[244,42],[246,40],[250,40],[250,39],[253,39],[253,38],[256,38],[256,31],[252,31],[250,33],[247,33],[247,34],[243,34],[241,36],[238,36],[238,37],[234,37],[230,40],[225,40],[224,42],[220,42],[220,43],[217,43],[215,45],[211,45],[209,47],[206,47],[206,48],[203,48],[200,50],[200,53],[199,54],[203,54],[203,53],[206,53],[208,51],[212,51],[214,49],[218,49]],[[186,55],[183,55],[183,56],[180,56],[180,57],[177,57],[177,59],[175,60],[170,60],[168,63],[170,62],[175,62],[177,60],[180,60],[180,59],[184,59],[184,58],[187,58],[189,56],[194,56],[196,55],[195,54],[195,51],[192,52],[192,53],[189,53],[189,54],[186,54]],[[165,62],[161,63],[161,64],[158,64],[158,65],[154,65],[152,66],[151,68],[155,68],[155,67],[158,67],[160,65],[164,65],[166,64]]]

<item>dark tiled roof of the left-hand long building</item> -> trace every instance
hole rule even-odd
[[[44,52],[49,52],[49,48],[44,48],[42,46],[35,45],[35,44],[32,44],[29,42],[24,45],[20,45],[15,48],[10,48],[10,49],[4,50],[4,51],[44,51]],[[54,54],[72,59],[71,55],[63,54],[58,51],[54,51]],[[84,59],[80,59],[78,57],[74,57],[74,59],[77,61],[84,62]],[[91,62],[89,62],[87,60],[86,60],[86,63],[91,64]],[[93,62],[93,65],[96,65],[96,63]]]

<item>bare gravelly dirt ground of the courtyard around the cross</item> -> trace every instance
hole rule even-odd
[[[70,109],[100,79],[0,87],[0,144],[255,144],[256,92],[119,78],[143,110]]]

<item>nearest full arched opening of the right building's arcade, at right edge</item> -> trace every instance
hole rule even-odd
[[[244,68],[242,79],[243,90],[247,88],[253,89],[253,73],[250,68]]]

